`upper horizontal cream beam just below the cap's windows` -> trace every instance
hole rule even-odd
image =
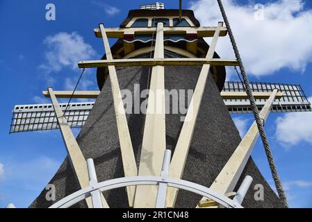
[[[198,37],[213,37],[217,27],[164,27],[163,33],[166,34],[186,34],[186,33],[197,33]],[[146,28],[105,28],[107,37],[112,38],[123,38],[124,33],[133,33],[136,35],[140,34],[152,34],[156,32],[155,27]],[[97,37],[102,37],[101,30],[95,28],[95,35]],[[227,28],[222,27],[220,29],[220,36],[227,35]]]

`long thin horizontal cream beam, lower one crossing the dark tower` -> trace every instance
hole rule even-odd
[[[116,60],[88,60],[78,63],[79,68],[99,68],[115,65],[116,67],[140,67],[156,65],[213,65],[213,66],[237,66],[236,59],[221,58],[130,58]]]

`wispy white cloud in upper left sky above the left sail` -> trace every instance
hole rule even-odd
[[[40,69],[46,74],[61,71],[64,67],[78,69],[79,61],[97,56],[92,46],[76,32],[48,36],[44,39],[44,44],[47,46],[44,53],[47,62],[40,65]],[[53,80],[51,82],[53,83]]]

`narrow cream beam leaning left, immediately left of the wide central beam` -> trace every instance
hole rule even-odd
[[[99,24],[101,29],[101,34],[103,37],[103,43],[105,47],[106,59],[113,60],[112,53],[110,51],[110,46],[106,31],[103,24]],[[115,107],[115,115],[118,128],[118,136],[120,139],[120,149],[122,153],[122,164],[124,166],[124,176],[137,176],[138,167],[136,166],[136,158],[134,157],[133,147],[131,142],[131,137],[129,133],[129,127],[126,120],[126,112],[124,110],[124,103],[122,101],[122,94],[120,92],[120,85],[117,79],[117,73],[114,65],[108,66],[108,72],[110,76],[110,85],[113,92],[113,101]],[[133,207],[134,194],[136,193],[136,187],[130,186],[126,187],[128,194],[129,207]]]

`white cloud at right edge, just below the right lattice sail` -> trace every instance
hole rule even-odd
[[[300,142],[312,144],[312,112],[286,113],[278,117],[275,123],[277,141],[284,147],[290,148]]]

